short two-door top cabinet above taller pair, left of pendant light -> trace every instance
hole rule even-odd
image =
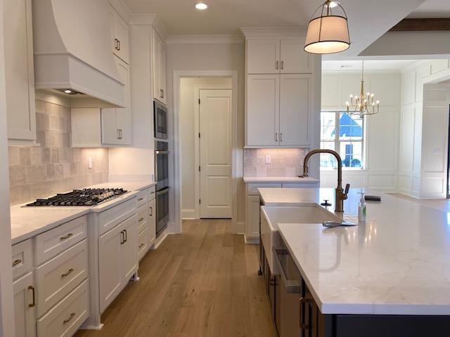
[[[304,39],[301,38],[247,40],[248,74],[311,73],[312,60],[304,51]]]

